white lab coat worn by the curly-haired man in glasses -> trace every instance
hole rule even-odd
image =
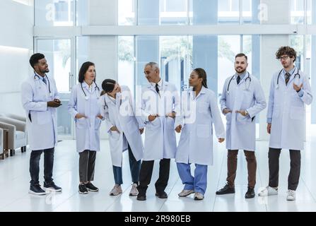
[[[312,103],[312,90],[308,76],[300,71],[300,79],[294,75],[298,69],[295,69],[293,75],[285,82],[285,76],[282,72],[279,76],[279,88],[277,88],[277,78],[279,72],[274,73],[271,80],[269,105],[267,118],[271,121],[270,148],[285,148],[291,150],[303,150],[305,138],[305,104]],[[303,97],[299,97],[293,88],[293,82],[297,85],[303,83]]]

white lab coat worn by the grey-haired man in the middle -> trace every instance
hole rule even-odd
[[[139,110],[143,121],[146,121],[143,160],[175,158],[177,150],[174,130],[175,119],[166,117],[166,115],[179,112],[179,107],[180,98],[177,88],[172,83],[163,81],[160,95],[151,84],[142,90]],[[148,121],[150,114],[158,114],[159,117],[153,121]]]

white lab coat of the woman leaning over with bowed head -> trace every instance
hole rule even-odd
[[[100,99],[100,112],[105,117],[106,131],[109,134],[112,165],[116,167],[122,167],[122,153],[128,149],[127,142],[137,161],[144,154],[139,129],[143,129],[145,125],[141,116],[135,117],[133,102],[131,90],[125,85],[121,86],[121,93],[117,93],[115,100],[107,94]],[[119,132],[111,131],[112,126],[116,126]]]

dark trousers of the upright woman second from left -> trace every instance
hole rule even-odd
[[[93,181],[96,153],[94,150],[84,150],[82,153],[79,153],[80,182]]]

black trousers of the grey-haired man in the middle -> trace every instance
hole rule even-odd
[[[144,161],[141,163],[141,172],[139,173],[139,186],[137,189],[139,190],[139,195],[145,195],[148,184],[151,183],[151,175],[153,174],[153,162],[151,161]],[[155,183],[156,192],[158,194],[162,194],[165,191],[165,187],[168,184],[170,173],[170,159],[163,158],[159,162],[159,178]]]

